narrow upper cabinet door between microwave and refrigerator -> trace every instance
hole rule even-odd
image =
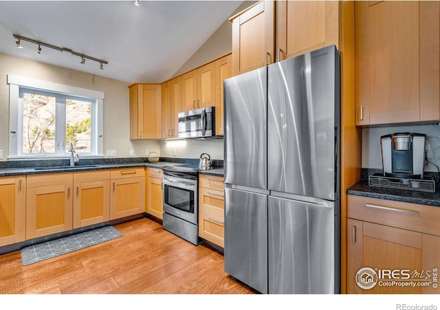
[[[232,76],[232,56],[215,60],[215,133],[223,135],[223,80]]]

